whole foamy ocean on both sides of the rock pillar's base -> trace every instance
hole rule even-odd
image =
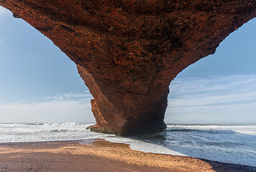
[[[137,151],[192,156],[256,167],[256,125],[168,125],[157,134],[122,138],[94,133],[91,123],[0,124],[0,143],[103,138]],[[86,143],[86,142],[85,142]]]

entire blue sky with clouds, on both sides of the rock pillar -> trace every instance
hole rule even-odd
[[[94,122],[76,65],[0,7],[0,123]],[[256,19],[170,86],[166,123],[256,123]]]

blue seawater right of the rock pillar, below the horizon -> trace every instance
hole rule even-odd
[[[168,125],[167,132],[165,143],[174,151],[256,166],[256,125]]]

